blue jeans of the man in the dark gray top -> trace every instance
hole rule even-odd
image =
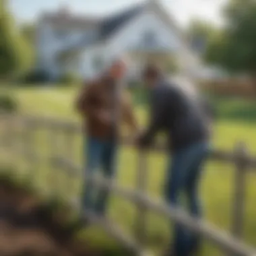
[[[187,199],[189,214],[201,218],[201,204],[198,195],[198,185],[201,177],[201,167],[207,156],[208,144],[195,143],[192,146],[174,152],[168,168],[166,184],[166,199],[174,206],[181,207],[181,193]],[[189,256],[199,246],[199,235],[189,232],[180,224],[174,225],[174,242],[172,252],[176,256]]]

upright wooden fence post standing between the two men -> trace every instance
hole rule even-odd
[[[139,151],[139,162],[137,170],[137,191],[146,193],[148,181],[148,168],[146,150]],[[143,245],[146,241],[146,214],[147,207],[143,203],[137,203],[137,217],[135,219],[135,237],[139,244]]]

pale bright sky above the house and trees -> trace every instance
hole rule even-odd
[[[140,3],[142,0],[9,0],[9,7],[18,22],[34,21],[41,11],[54,11],[67,5],[74,13],[106,15]],[[187,26],[191,18],[201,18],[221,25],[221,9],[227,0],[158,0],[177,23]]]

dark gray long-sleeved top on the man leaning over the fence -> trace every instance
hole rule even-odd
[[[198,96],[166,80],[162,80],[150,94],[151,120],[142,143],[150,143],[158,131],[168,135],[172,150],[207,141],[210,112]]]

